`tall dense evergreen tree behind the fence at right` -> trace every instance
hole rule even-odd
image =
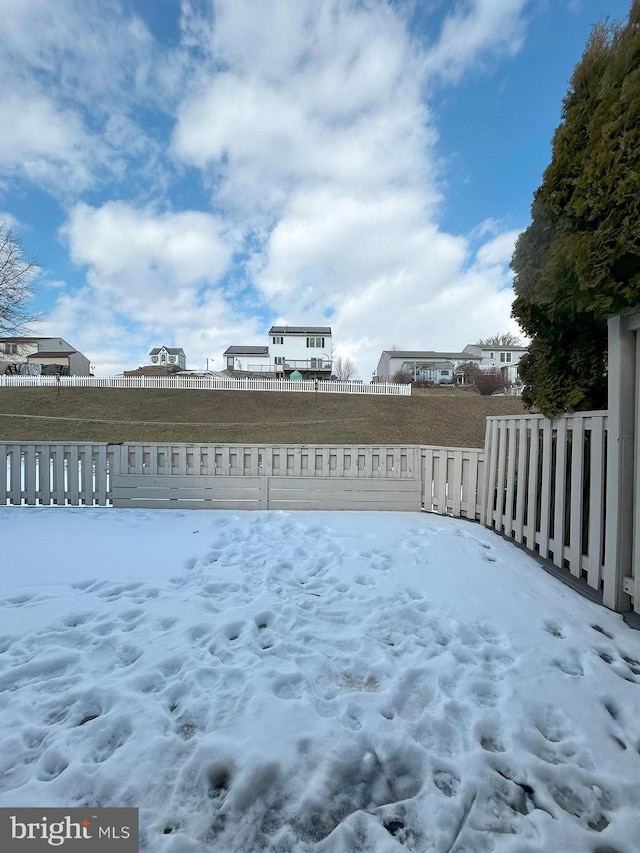
[[[640,0],[594,27],[531,217],[511,262],[532,338],[523,399],[549,416],[605,408],[607,318],[640,305]]]

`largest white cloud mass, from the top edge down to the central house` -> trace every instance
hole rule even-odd
[[[176,155],[217,201],[271,227],[256,286],[288,322],[331,318],[363,376],[393,342],[456,349],[513,330],[515,234],[438,227],[437,134],[423,84],[518,49],[526,0],[475,0],[415,47],[384,3],[216,3],[210,72],[178,111]],[[475,254],[474,254],[475,253]]]

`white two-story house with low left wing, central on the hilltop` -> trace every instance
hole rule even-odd
[[[296,371],[304,378],[331,377],[329,326],[272,326],[267,346],[230,346],[224,352],[226,370],[262,373],[283,378]]]

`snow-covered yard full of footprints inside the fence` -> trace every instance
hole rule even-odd
[[[0,806],[154,853],[640,849],[640,633],[418,513],[0,509]]]

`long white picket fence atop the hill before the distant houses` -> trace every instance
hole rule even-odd
[[[375,394],[411,396],[411,385],[393,382],[328,382],[289,379],[233,379],[215,376],[4,376],[0,388],[182,388],[200,391],[294,391],[306,394]]]

